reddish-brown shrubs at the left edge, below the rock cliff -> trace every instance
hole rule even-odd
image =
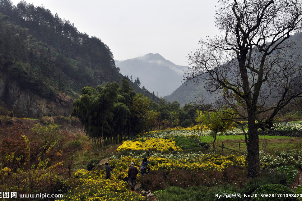
[[[27,169],[30,168],[31,165],[37,165],[38,161],[36,158],[39,158],[39,156],[41,160],[50,158],[52,161],[53,159],[58,159],[61,161],[61,152],[59,150],[62,150],[63,147],[67,147],[68,141],[74,138],[74,135],[64,130],[57,130],[55,132],[48,131],[47,126],[38,127],[45,127],[45,132],[49,132],[45,134],[48,136],[47,142],[49,143],[46,144],[44,142],[44,136],[35,130],[32,130],[32,128],[29,126],[25,126],[21,123],[15,123],[10,127],[5,128],[5,133],[2,130],[2,133],[0,133],[0,159],[3,162],[3,167],[10,167],[13,169],[13,171],[16,171],[18,167]],[[35,126],[35,128],[37,128],[37,126]],[[22,137],[22,135],[26,136],[29,140],[30,151],[27,149],[28,144],[25,142],[25,139]],[[52,147],[52,150],[47,152],[47,149],[55,141],[56,144]],[[27,160],[29,153],[30,162],[27,162],[27,166],[24,167],[24,162]],[[14,156],[13,160],[5,160],[6,155]],[[17,161],[16,158],[19,157],[22,159]]]

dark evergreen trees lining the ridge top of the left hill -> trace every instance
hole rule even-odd
[[[51,45],[65,57],[71,57],[95,70],[116,71],[114,57],[109,47],[97,37],[80,33],[69,20],[53,15],[44,6],[35,7],[26,1],[12,5],[11,0],[0,0],[0,12],[17,24],[29,29],[39,41]]]

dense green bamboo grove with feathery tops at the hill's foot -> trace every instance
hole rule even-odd
[[[121,86],[108,82],[95,89],[84,87],[73,103],[72,116],[80,119],[93,145],[99,147],[149,130],[160,114],[149,110],[149,104],[123,79]]]

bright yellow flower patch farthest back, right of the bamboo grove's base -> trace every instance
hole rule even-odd
[[[124,141],[116,151],[122,150],[158,150],[158,151],[181,151],[179,146],[175,145],[175,141],[172,139],[162,138],[149,138],[149,139],[135,139]]]

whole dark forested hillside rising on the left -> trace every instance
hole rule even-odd
[[[123,75],[101,39],[80,33],[70,21],[25,1],[14,6],[0,0],[0,12],[2,107],[28,116],[70,114],[72,99],[83,87],[121,83]]]

